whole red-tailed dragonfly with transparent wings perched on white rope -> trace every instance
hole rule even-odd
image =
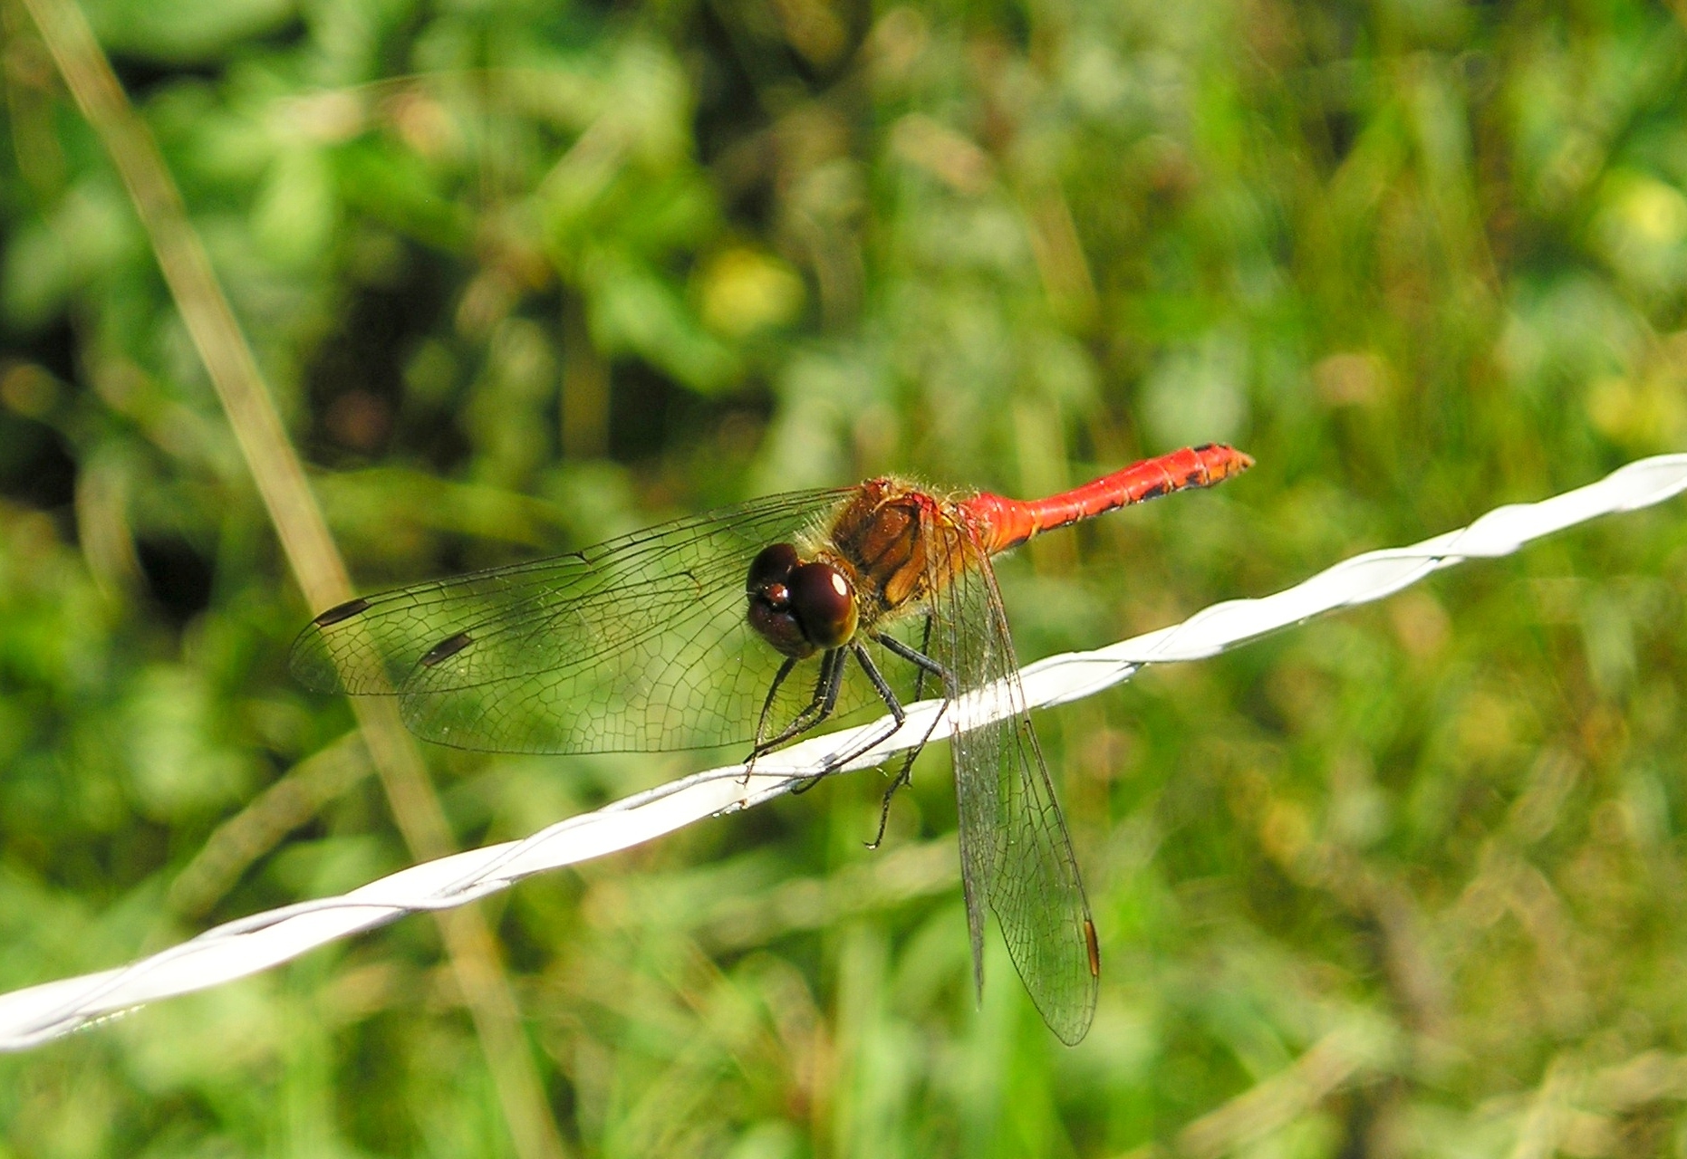
[[[1026,705],[990,558],[1027,540],[1253,461],[1223,444],[1145,459],[1019,501],[906,479],[795,491],[569,555],[412,584],[319,614],[290,665],[329,693],[391,695],[412,732],[494,752],[749,744],[746,766],[827,722],[877,710],[896,732],[926,687],[948,720],[973,985],[985,908],[1056,1038],[1090,1029],[1100,943]],[[887,715],[886,715],[887,710]]]

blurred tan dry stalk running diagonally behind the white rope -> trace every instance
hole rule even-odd
[[[100,133],[133,197],[170,295],[228,412],[305,599],[312,607],[351,599],[346,563],[310,494],[251,348],[187,221],[181,192],[164,165],[157,142],[118,84],[74,0],[24,3],[64,83]],[[410,852],[418,860],[450,852],[445,813],[396,709],[380,697],[354,702],[354,707]],[[454,909],[439,914],[439,923],[518,1152],[523,1159],[562,1156],[562,1139],[547,1108],[538,1070],[521,1032],[520,1012],[481,911],[472,906]]]

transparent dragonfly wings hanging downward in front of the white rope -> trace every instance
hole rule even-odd
[[[950,744],[975,980],[984,985],[989,903],[1043,1021],[1076,1044],[1095,1017],[1100,982],[1090,903],[1031,729],[989,555],[958,521],[951,535],[935,538],[943,543],[933,552],[931,651],[958,690],[950,692],[957,712]],[[945,574],[953,577],[946,585],[936,582]]]

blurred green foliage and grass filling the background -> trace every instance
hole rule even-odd
[[[1687,10],[98,0],[363,587],[901,471],[1259,467],[1004,565],[1024,658],[1687,440]],[[17,0],[0,987],[405,864],[312,609]],[[946,752],[489,903],[589,1156],[1687,1154],[1687,523],[1043,714],[1078,1049]],[[430,752],[466,844],[697,768]],[[292,784],[285,795],[267,793]],[[278,805],[277,801],[283,801]],[[299,803],[304,801],[304,806]],[[3,1156],[506,1154],[435,928],[0,1059]]]

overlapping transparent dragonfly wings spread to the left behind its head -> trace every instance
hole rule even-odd
[[[754,499],[572,555],[356,599],[312,621],[292,670],[321,692],[396,693],[413,732],[466,749],[747,741],[783,660],[746,623],[749,563],[822,526],[847,496]],[[788,720],[813,680],[793,673],[769,719]]]

